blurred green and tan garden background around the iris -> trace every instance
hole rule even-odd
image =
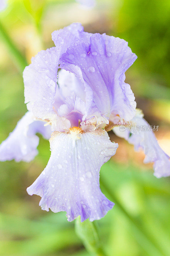
[[[54,45],[52,31],[72,22],[129,42],[138,59],[126,72],[126,82],[146,120],[159,125],[155,135],[170,154],[169,0],[99,0],[92,9],[74,0],[9,0],[0,12],[0,142],[26,112],[26,62]],[[109,136],[119,148],[100,171],[102,192],[115,202],[95,221],[104,250],[108,256],[170,255],[169,178],[155,178],[152,164],[143,164],[143,152],[134,152],[112,132]],[[49,142],[39,137],[39,155],[31,163],[0,163],[0,255],[91,256],[65,212],[42,211],[40,197],[26,193],[50,156]]]

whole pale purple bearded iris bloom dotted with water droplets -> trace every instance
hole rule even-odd
[[[169,157],[152,132],[129,137],[116,131],[121,124],[146,123],[124,82],[125,71],[137,58],[127,42],[86,33],[79,23],[54,31],[52,39],[55,47],[39,52],[24,70],[28,112],[2,142],[0,160],[30,161],[37,154],[36,133],[47,139],[51,135],[49,162],[27,192],[41,196],[43,210],[66,211],[69,221],[78,215],[81,221],[93,221],[114,205],[99,184],[100,167],[118,148],[107,131],[114,129],[142,147],[157,177],[170,175]]]

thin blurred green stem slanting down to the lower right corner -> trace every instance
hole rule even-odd
[[[115,206],[119,208],[121,212],[124,213],[124,215],[130,220],[133,227],[137,230],[139,234],[139,240],[138,242],[143,245],[149,245],[149,248],[154,252],[154,255],[165,255],[164,252],[162,252],[162,249],[159,247],[159,245],[155,242],[153,237],[148,234],[147,230],[142,226],[140,221],[137,218],[132,217],[126,209],[122,206],[122,204],[118,201],[115,194],[113,194],[113,191],[111,191],[105,181],[100,178],[100,185],[101,188],[103,188],[107,194],[109,195],[110,199],[115,203]],[[147,247],[147,246],[146,246]],[[145,248],[144,248],[145,249]]]

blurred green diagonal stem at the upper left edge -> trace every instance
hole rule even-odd
[[[13,58],[14,62],[17,64],[20,73],[23,72],[24,68],[28,65],[25,57],[21,54],[15,44],[12,42],[12,39],[8,35],[6,29],[3,27],[3,24],[0,21],[0,36],[4,41],[4,44],[9,50],[11,57]]]

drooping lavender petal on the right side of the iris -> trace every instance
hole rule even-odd
[[[143,115],[137,112],[136,116],[131,120],[136,126],[141,129],[148,127],[149,124],[143,118]],[[119,137],[125,138],[130,144],[134,145],[135,150],[142,148],[144,150],[144,163],[154,162],[154,175],[157,178],[170,176],[170,161],[169,156],[160,148],[154,133],[149,130],[124,130],[120,131],[120,127],[113,128],[115,134]],[[130,136],[129,136],[130,135]]]

